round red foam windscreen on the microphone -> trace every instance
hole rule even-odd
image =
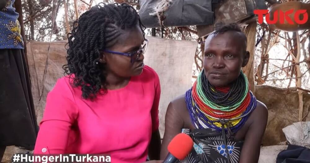
[[[183,160],[193,149],[194,142],[187,134],[177,134],[169,143],[168,151],[178,160]]]

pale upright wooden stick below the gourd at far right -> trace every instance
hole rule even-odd
[[[296,32],[296,39],[297,39],[297,57],[296,61],[299,62],[300,60],[300,38],[299,38],[299,33]],[[300,73],[300,66],[299,64],[296,65],[297,69],[297,76],[300,78],[297,79],[296,86],[301,88],[301,73]],[[298,90],[298,97],[299,97],[299,121],[303,119],[303,91]]]

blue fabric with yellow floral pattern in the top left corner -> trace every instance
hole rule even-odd
[[[7,6],[0,10],[0,49],[24,49],[20,35],[19,14],[13,7],[15,0],[10,0]]]

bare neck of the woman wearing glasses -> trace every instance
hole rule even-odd
[[[130,77],[120,77],[113,73],[108,73],[106,76],[107,89],[120,89],[129,83]]]

